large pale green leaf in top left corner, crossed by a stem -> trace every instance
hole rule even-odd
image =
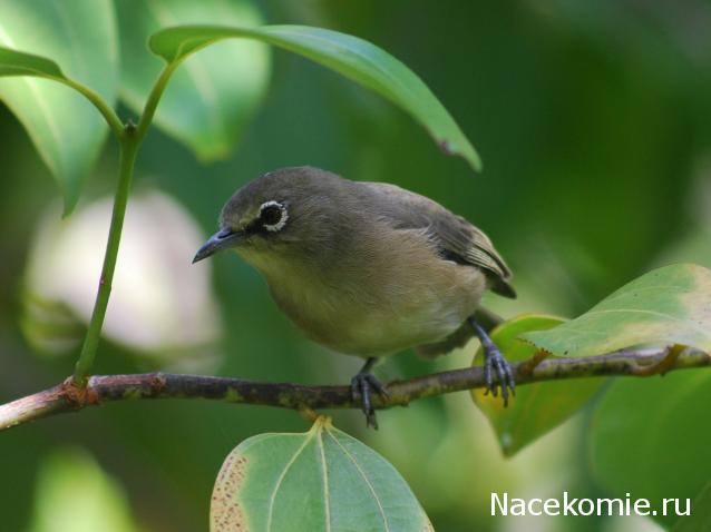
[[[0,99],[25,126],[58,180],[69,211],[104,144],[107,126],[84,96],[42,78],[61,79],[64,72],[107,102],[115,100],[118,38],[114,6],[110,0],[3,0],[0,46],[0,75],[23,76],[0,79]],[[8,49],[28,53],[13,55]]]

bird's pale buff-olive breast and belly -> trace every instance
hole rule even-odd
[[[436,256],[423,229],[363,235],[328,268],[308,258],[246,254],[279,306],[313,341],[337,352],[382,356],[454,333],[479,304],[484,274]]]

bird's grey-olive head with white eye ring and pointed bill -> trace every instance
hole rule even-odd
[[[348,183],[313,167],[282,168],[250,181],[227,200],[220,230],[193,263],[223,249],[257,266],[275,258],[322,255],[338,230]]]

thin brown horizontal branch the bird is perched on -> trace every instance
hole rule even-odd
[[[678,346],[625,349],[579,358],[548,357],[515,364],[517,385],[593,376],[649,376],[674,370],[711,365],[711,355]],[[387,384],[388,398],[373,396],[376,408],[405,406],[412,401],[484,387],[480,367],[435,373]],[[86,388],[71,377],[64,383],[0,406],[0,430],[109,401],[146,398],[205,398],[227,403],[280,406],[299,411],[360,408],[349,386],[306,386],[240,378],[147,373],[96,375]]]

